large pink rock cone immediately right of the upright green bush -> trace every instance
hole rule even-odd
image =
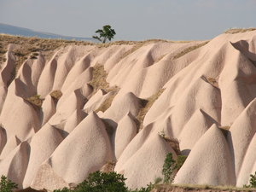
[[[235,185],[234,160],[217,125],[200,138],[177,172],[174,183]]]

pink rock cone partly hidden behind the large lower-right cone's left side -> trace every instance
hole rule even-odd
[[[196,110],[188,123],[184,125],[183,131],[178,137],[179,148],[182,154],[189,155],[189,151],[194,147],[195,143],[214,123],[216,124],[217,122],[203,110]]]

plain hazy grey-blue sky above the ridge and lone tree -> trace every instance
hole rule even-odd
[[[0,0],[0,23],[90,38],[110,25],[115,40],[200,40],[256,27],[256,0]]]

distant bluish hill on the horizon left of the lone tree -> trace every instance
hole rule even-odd
[[[58,35],[49,32],[36,32],[31,29],[19,27],[19,26],[10,26],[7,24],[0,23],[0,33],[10,34],[10,35],[20,35],[25,37],[38,37],[38,38],[62,38],[67,40],[78,40],[78,41],[95,41],[93,38],[79,38],[79,37],[71,37]]]

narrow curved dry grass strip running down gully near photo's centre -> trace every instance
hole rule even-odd
[[[149,108],[152,107],[154,102],[158,99],[158,97],[164,92],[164,89],[158,90],[153,96],[148,97],[147,100],[143,100],[143,108],[141,108],[140,112],[137,115],[137,120],[139,124],[139,129],[143,129],[143,120],[145,118],[146,113],[148,113]]]

